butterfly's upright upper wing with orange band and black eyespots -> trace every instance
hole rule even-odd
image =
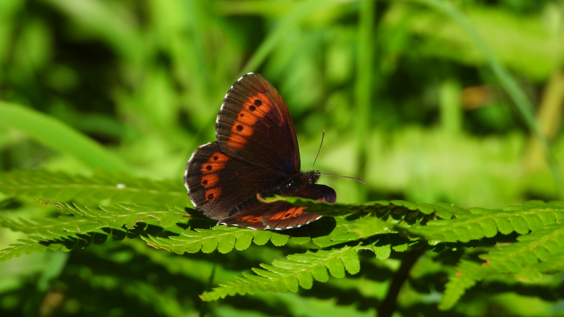
[[[299,171],[298,140],[288,108],[259,74],[246,74],[227,92],[215,134],[221,148],[233,157],[288,177]]]

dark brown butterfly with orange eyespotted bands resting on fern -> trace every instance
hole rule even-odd
[[[266,203],[262,197],[337,200],[333,188],[316,184],[319,171],[300,171],[290,112],[261,75],[245,74],[227,91],[215,121],[215,137],[190,157],[184,184],[195,208],[217,224],[255,230],[297,228],[321,215],[286,201]]]

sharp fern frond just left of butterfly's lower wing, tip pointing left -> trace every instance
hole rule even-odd
[[[79,204],[70,204],[68,202],[55,202],[49,199],[36,199],[36,201],[44,205],[49,204],[57,206],[68,214],[84,217],[112,228],[120,228],[125,225],[127,228],[133,229],[135,223],[147,217],[156,219],[160,222],[162,227],[168,228],[182,220],[186,214],[184,208],[181,207],[176,208],[176,210],[168,210],[144,204],[117,204],[120,209],[108,206],[100,206],[100,209],[95,209]]]

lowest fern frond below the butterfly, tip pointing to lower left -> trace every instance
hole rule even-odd
[[[357,252],[362,249],[373,250],[371,244],[343,246],[331,250],[307,251],[303,254],[290,254],[285,259],[272,262],[272,265],[261,264],[262,268],[253,268],[256,274],[243,273],[235,281],[220,284],[211,292],[201,295],[205,301],[218,300],[235,294],[254,294],[265,292],[297,292],[299,287],[310,289],[313,280],[325,282],[329,273],[336,278],[345,277],[345,271],[356,274],[360,270]]]

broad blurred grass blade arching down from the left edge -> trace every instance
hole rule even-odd
[[[0,101],[0,124],[20,129],[45,146],[69,153],[92,168],[133,173],[120,158],[94,140],[53,117],[23,105]]]

